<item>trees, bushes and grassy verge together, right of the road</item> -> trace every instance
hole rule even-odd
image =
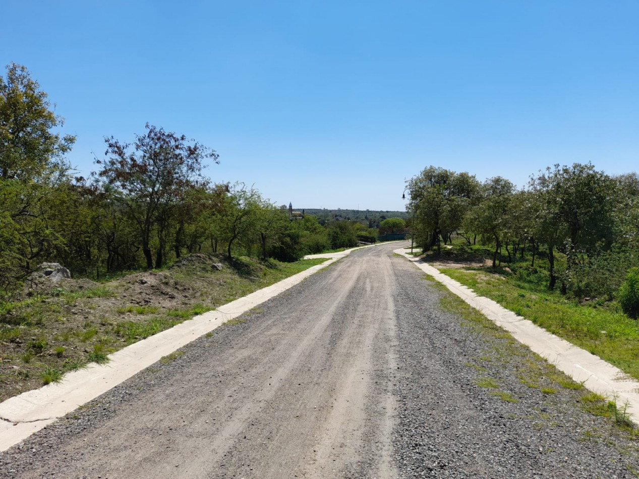
[[[408,181],[426,261],[639,379],[639,176],[554,165],[523,188],[427,167]]]

